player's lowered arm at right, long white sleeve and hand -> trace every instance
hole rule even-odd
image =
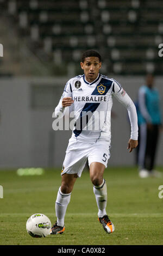
[[[131,152],[134,148],[137,147],[138,142],[138,125],[137,125],[137,112],[134,102],[128,96],[128,94],[123,90],[120,84],[114,81],[112,87],[112,95],[116,97],[116,99],[127,108],[130,125],[131,125],[131,135],[128,141],[129,152]]]

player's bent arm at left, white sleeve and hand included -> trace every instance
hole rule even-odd
[[[71,106],[73,103],[73,99],[72,99],[72,88],[71,88],[71,83],[70,80],[66,83],[64,92],[61,96],[61,99],[57,105],[57,107],[55,107],[55,111],[53,113],[53,117],[63,117],[65,112],[66,112],[66,107]]]

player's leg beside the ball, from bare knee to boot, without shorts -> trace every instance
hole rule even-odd
[[[57,222],[53,225],[51,234],[62,234],[65,230],[65,214],[67,206],[70,203],[71,192],[78,175],[65,173],[61,177],[61,186],[59,187],[55,202]]]

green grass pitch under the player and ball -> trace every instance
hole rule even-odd
[[[158,168],[163,172],[163,168]],[[163,198],[158,187],[163,179],[140,179],[136,168],[108,168],[106,211],[115,232],[106,234],[97,221],[97,205],[89,172],[77,179],[65,217],[65,233],[36,239],[27,234],[30,215],[55,218],[55,199],[60,170],[41,176],[17,176],[14,170],[0,171],[4,198],[0,199],[0,245],[163,245]]]

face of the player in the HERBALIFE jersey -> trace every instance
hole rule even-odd
[[[84,62],[80,63],[81,68],[84,70],[86,81],[91,83],[97,78],[101,64],[98,57],[86,57]]]

